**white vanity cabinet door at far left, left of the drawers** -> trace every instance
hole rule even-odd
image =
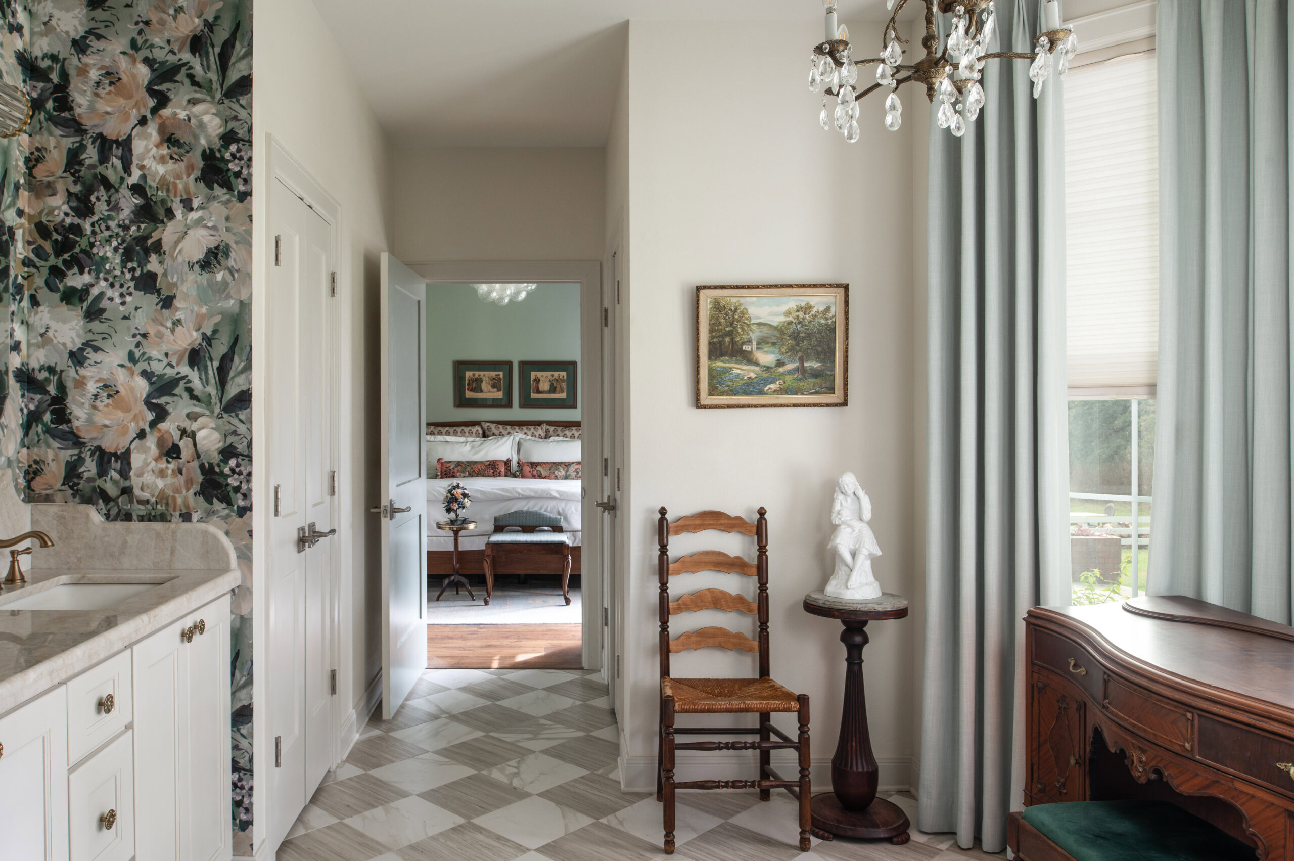
[[[67,861],[67,689],[0,717],[0,855]]]

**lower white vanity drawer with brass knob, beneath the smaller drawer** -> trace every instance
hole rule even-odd
[[[135,769],[131,730],[67,776],[71,861],[135,856]]]

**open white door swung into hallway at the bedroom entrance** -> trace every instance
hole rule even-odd
[[[382,717],[427,668],[427,284],[382,255]]]

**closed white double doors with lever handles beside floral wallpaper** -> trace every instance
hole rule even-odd
[[[270,180],[265,409],[272,506],[267,571],[269,839],[287,834],[334,757],[336,368],[334,227]]]

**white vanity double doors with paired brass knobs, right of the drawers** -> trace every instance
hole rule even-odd
[[[131,651],[136,858],[229,858],[228,596]]]

